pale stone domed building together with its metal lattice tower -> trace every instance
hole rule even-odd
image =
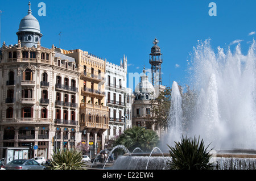
[[[143,69],[143,75],[135,87],[134,90],[134,103],[133,103],[133,126],[144,127],[146,129],[154,129],[148,127],[147,117],[152,116],[152,104],[151,100],[156,99],[159,92],[166,89],[162,86],[162,78],[159,74],[161,73],[162,54],[158,47],[158,40],[153,41],[154,46],[151,48],[150,64],[151,64],[151,82],[148,80],[145,68]],[[158,132],[159,133],[159,132]]]

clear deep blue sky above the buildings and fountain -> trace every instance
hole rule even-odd
[[[38,13],[40,2],[46,5],[45,16]],[[187,60],[198,40],[210,39],[214,50],[220,46],[233,51],[240,43],[247,54],[256,35],[254,0],[31,0],[31,4],[43,47],[82,49],[117,65],[125,54],[129,73],[141,73],[143,66],[150,71],[149,54],[156,37],[163,54],[162,85],[170,87],[173,81],[189,85]],[[27,10],[28,1],[0,2],[1,45],[17,44],[16,32]]]

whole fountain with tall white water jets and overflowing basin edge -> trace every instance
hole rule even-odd
[[[205,145],[210,144],[209,149],[217,150],[215,169],[255,169],[255,60],[255,41],[247,55],[241,53],[240,44],[234,53],[220,47],[214,53],[209,40],[199,42],[188,61],[193,94],[181,94],[177,82],[172,84],[170,125],[164,142],[172,146],[182,134],[200,136]],[[170,157],[151,154],[120,156],[113,169],[164,169]]]

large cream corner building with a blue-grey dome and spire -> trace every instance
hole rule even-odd
[[[28,6],[18,43],[4,42],[0,49],[0,157],[3,148],[32,144],[38,149],[30,149],[30,157],[48,159],[54,149],[74,147],[81,137],[79,73],[75,58],[56,52],[54,45],[41,46],[39,22]]]

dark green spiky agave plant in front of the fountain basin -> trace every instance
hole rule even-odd
[[[167,162],[169,169],[207,170],[212,167],[212,163],[209,163],[211,155],[207,151],[209,145],[205,148],[203,139],[200,141],[200,136],[198,140],[196,137],[182,136],[181,141],[175,142],[174,147],[167,146],[170,148],[171,157]]]

